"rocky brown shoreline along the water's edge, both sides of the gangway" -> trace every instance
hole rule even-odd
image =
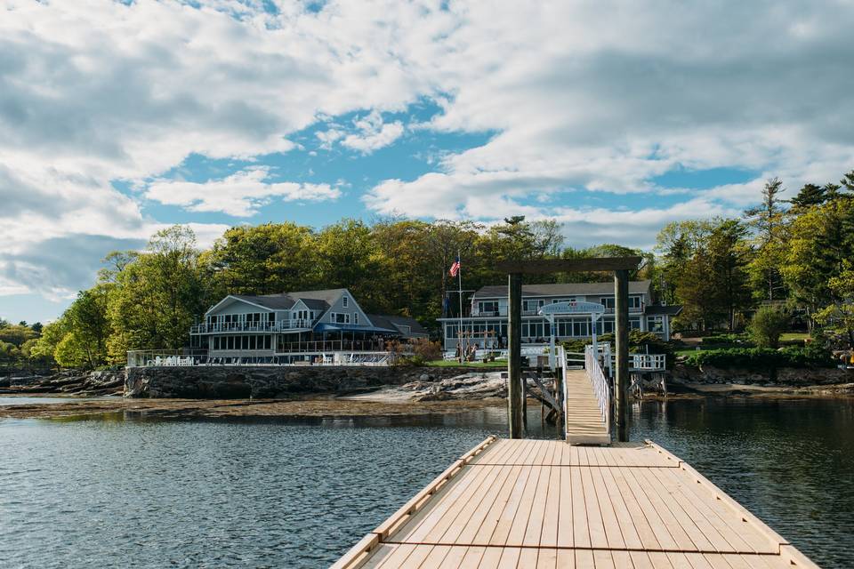
[[[350,368],[353,369],[353,368]],[[357,368],[358,369],[358,368]],[[60,373],[25,385],[0,388],[0,396],[68,397],[68,403],[27,405],[0,405],[0,418],[55,418],[123,413],[125,416],[160,417],[165,419],[243,417],[246,419],[300,418],[300,417],[357,417],[398,416],[424,413],[456,413],[488,406],[505,405],[506,379],[501,372],[460,373],[459,369],[402,368],[394,373],[391,368],[377,373],[379,368],[361,368],[358,373],[334,377],[334,373],[320,375],[300,373],[302,370],[279,371],[286,373],[270,384],[270,376],[262,373],[254,377],[255,389],[272,395],[267,397],[109,397],[127,395],[124,371],[93,373]],[[854,378],[843,370],[822,370],[820,377],[805,374],[782,373],[777,379],[787,378],[790,383],[770,381],[768,375],[735,370],[689,369],[677,365],[668,378],[668,399],[700,397],[854,397]],[[296,373],[291,377],[288,373]],[[278,377],[278,376],[276,376]],[[299,378],[302,378],[299,379]],[[306,379],[308,378],[308,379]],[[818,381],[817,381],[818,380]],[[847,380],[847,381],[840,381]],[[260,382],[259,382],[260,381]],[[287,389],[282,391],[281,381]],[[318,382],[319,381],[319,382]],[[815,382],[813,382],[815,381]],[[235,385],[246,384],[246,379],[235,376],[231,370],[214,385],[195,387],[209,393],[233,393]],[[275,385],[275,389],[270,387]],[[260,387],[259,387],[260,386]],[[82,397],[101,397],[78,400]],[[665,398],[649,394],[645,399]]]

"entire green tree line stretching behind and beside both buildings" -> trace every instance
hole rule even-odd
[[[649,252],[619,244],[575,248],[557,221],[521,216],[496,224],[346,219],[320,229],[238,226],[206,250],[191,229],[174,226],[142,251],[110,253],[93,287],[35,336],[12,345],[0,331],[0,354],[9,344],[7,352],[17,350],[21,361],[96,367],[122,363],[129,349],[181,348],[195,318],[229,293],[346,287],[367,312],[415,317],[436,329],[437,317],[455,314],[457,283],[448,268],[457,254],[469,291],[504,283],[495,271],[502,260],[640,255],[632,278],[651,279],[660,301],[683,305],[677,330],[735,331],[753,309],[769,305],[801,311],[805,325],[850,344],[854,171],[839,184],[807,184],[789,201],[782,192],[780,180],[768,180],[762,204],[738,218],[670,223]],[[569,273],[536,282],[610,278]]]

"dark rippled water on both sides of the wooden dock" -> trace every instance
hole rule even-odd
[[[323,567],[503,432],[498,409],[0,421],[0,566]],[[854,401],[649,403],[632,437],[690,461],[820,565],[854,566]]]

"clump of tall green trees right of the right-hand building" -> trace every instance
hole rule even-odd
[[[676,221],[658,234],[659,293],[683,305],[681,329],[733,332],[767,307],[854,344],[854,171],[790,200],[783,191],[768,180],[761,205],[739,218]]]

